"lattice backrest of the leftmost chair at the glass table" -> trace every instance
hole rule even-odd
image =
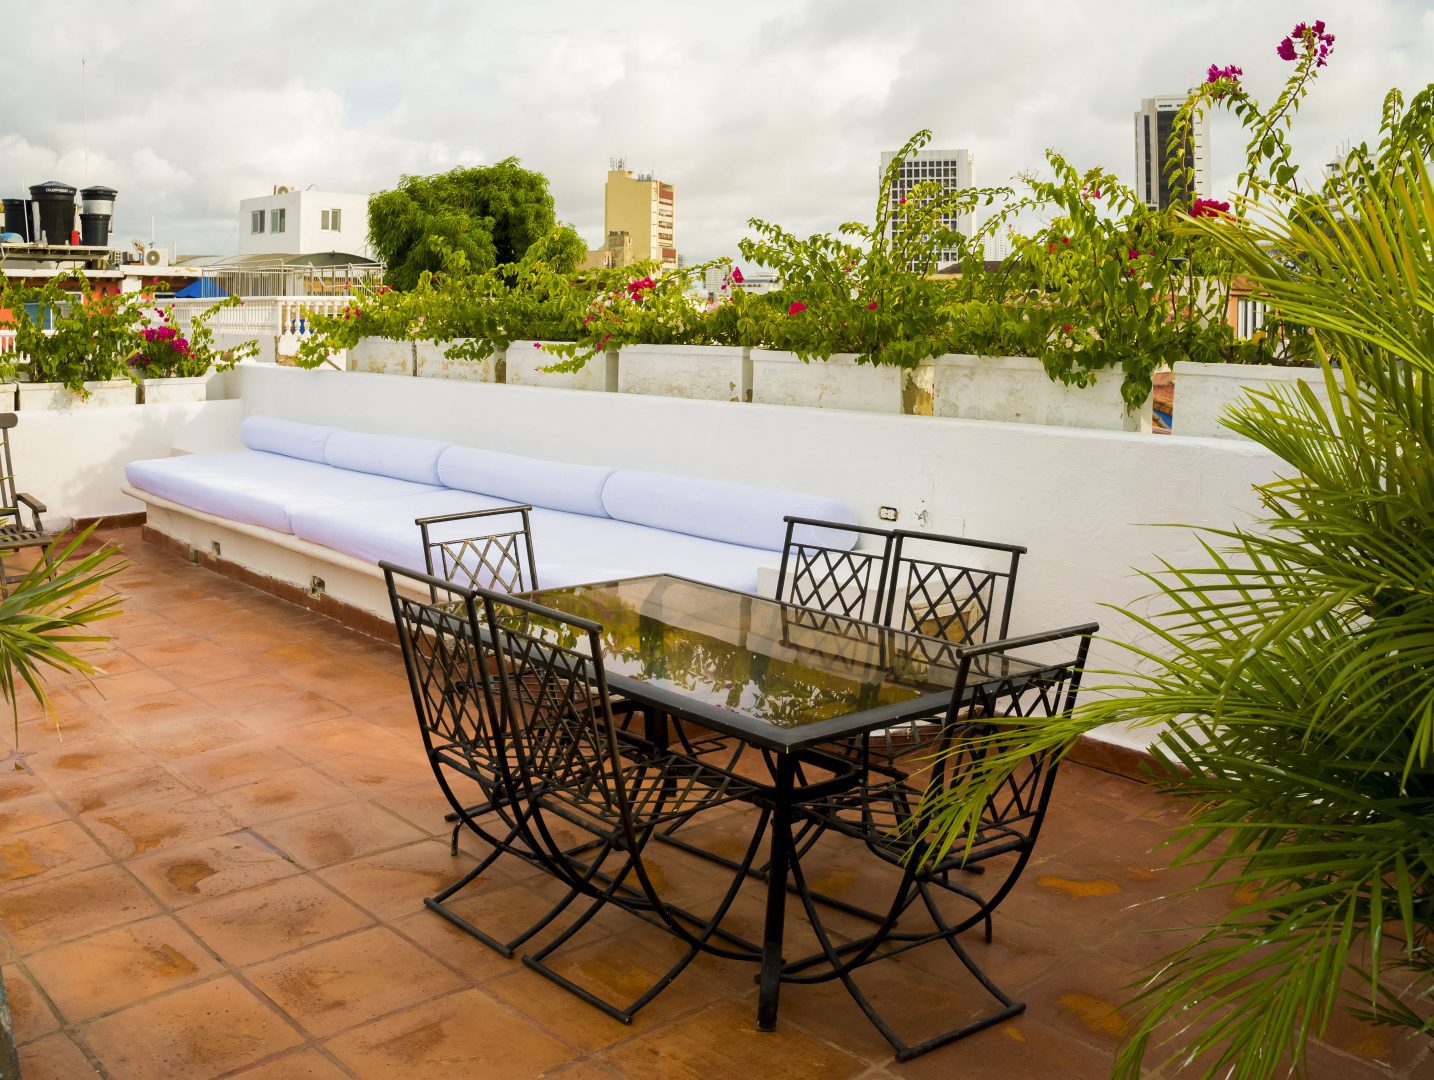
[[[498,711],[486,700],[493,661],[478,633],[478,594],[430,574],[380,565],[424,747],[430,756],[435,750],[456,753],[496,783],[492,756],[500,731]],[[406,595],[402,582],[427,591],[429,600]]]

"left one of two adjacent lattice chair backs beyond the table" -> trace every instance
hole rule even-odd
[[[833,615],[876,620],[886,592],[892,534],[863,525],[784,518],[786,542],[777,574],[777,600]],[[868,548],[840,546],[842,539]]]

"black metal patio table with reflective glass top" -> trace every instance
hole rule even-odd
[[[774,1030],[796,754],[942,713],[956,677],[955,645],[665,574],[526,595],[604,627],[614,694],[771,752],[757,1027]],[[1001,654],[979,663],[992,680],[1035,667]]]

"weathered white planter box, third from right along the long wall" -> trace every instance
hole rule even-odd
[[[751,400],[860,413],[932,412],[934,369],[859,364],[850,353],[803,361],[796,353],[751,350]]]

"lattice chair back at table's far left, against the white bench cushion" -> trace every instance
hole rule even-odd
[[[419,518],[414,524],[423,536],[423,556],[429,574],[473,588],[499,592],[528,592],[538,588],[533,539],[529,524],[532,506],[498,506],[489,511],[445,513]],[[439,536],[455,529],[437,529],[455,522],[492,525],[469,536]]]

